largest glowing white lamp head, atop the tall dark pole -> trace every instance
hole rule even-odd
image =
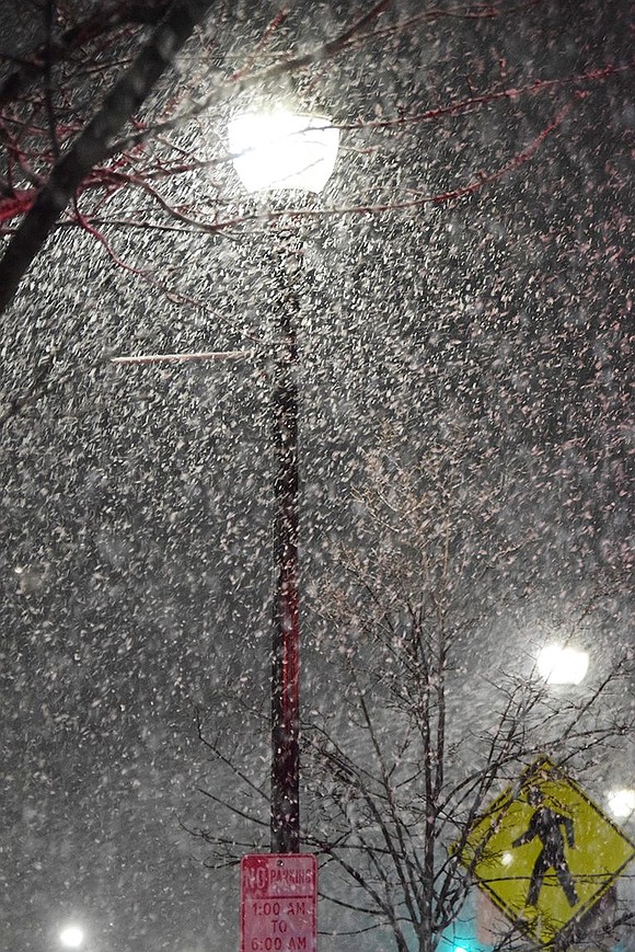
[[[234,169],[247,192],[321,192],[337,158],[339,130],[325,116],[243,113],[228,127]]]

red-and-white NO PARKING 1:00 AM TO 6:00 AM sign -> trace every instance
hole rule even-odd
[[[241,860],[241,952],[316,952],[318,863],[312,854]]]

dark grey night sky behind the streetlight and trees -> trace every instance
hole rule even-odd
[[[159,110],[175,91],[200,100],[210,74],[229,77],[254,50],[264,68],[318,46],[357,9],[291,4],[261,44],[277,11],[263,5],[257,16],[249,3],[212,14],[155,93]],[[320,596],[337,546],[372,551],[357,494],[366,456],[386,434],[402,460],[460,444],[465,506],[487,503],[500,538],[523,547],[493,589],[497,618],[460,645],[452,730],[465,719],[485,729],[488,683],[553,632],[575,632],[593,677],[632,647],[628,5],[501,2],[493,16],[427,16],[394,0],[369,27],[385,33],[299,82],[307,104],[343,128],[323,214],[284,220],[307,242],[308,711],[339,703]],[[8,4],[3,36],[28,49],[35,19]],[[0,51],[7,70],[5,38]],[[620,71],[591,76],[608,68]],[[94,108],[99,91],[85,82],[82,107]],[[241,194],[229,163],[216,162],[227,159],[228,115],[254,94],[212,102],[170,133],[212,164],[161,183],[187,216],[235,225],[161,231],[147,226],[171,219],[148,195],[122,191],[102,215],[105,241],[62,223],[3,317],[4,949],[57,950],[68,921],[85,928],[90,952],[238,948],[236,868],[207,869],[205,845],[183,827],[238,829],[197,790],[234,796],[207,761],[197,712],[250,776],[267,769],[267,360],[280,286],[272,249],[282,239],[263,227],[263,206]],[[477,105],[430,115],[470,99]],[[458,190],[465,194],[452,198]],[[249,353],[180,366],[109,360],[207,349]],[[466,572],[464,585],[474,578]],[[586,616],[598,592],[605,597]],[[632,681],[615,703],[630,691]],[[263,734],[245,736],[241,726],[258,718]],[[452,769],[470,766],[459,758]],[[592,795],[627,785],[634,767],[632,738],[596,754]],[[321,921],[337,931],[333,914]],[[350,941],[324,937],[321,949]],[[372,941],[363,948],[382,948]]]

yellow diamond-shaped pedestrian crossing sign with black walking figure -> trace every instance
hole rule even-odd
[[[489,805],[454,851],[507,918],[549,945],[611,887],[635,844],[544,758]]]

